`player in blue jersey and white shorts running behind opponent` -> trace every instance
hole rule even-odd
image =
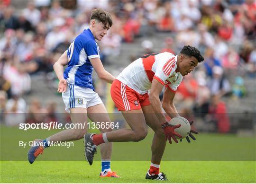
[[[101,63],[100,49],[95,40],[101,39],[112,26],[110,14],[103,9],[94,9],[91,13],[90,28],[85,29],[70,44],[58,61],[54,70],[58,77],[58,92],[62,93],[65,110],[70,113],[73,123],[84,123],[88,117],[93,122],[110,122],[110,117],[99,95],[94,92],[91,72],[94,69],[100,79],[112,83],[115,79],[106,71]],[[64,70],[64,66],[67,68]],[[101,132],[112,131],[101,129]],[[45,140],[39,140],[44,146],[33,146],[28,151],[28,160],[32,164],[43,150],[49,147],[49,142],[80,140],[87,132],[85,129],[67,129],[52,135]],[[112,143],[101,147],[102,168],[101,177],[119,177],[110,169]]]

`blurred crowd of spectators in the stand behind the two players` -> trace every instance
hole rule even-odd
[[[256,0],[29,0],[24,9],[14,8],[13,1],[0,1],[1,112],[37,111],[33,100],[26,104],[22,98],[30,93],[31,78],[52,78],[53,63],[89,27],[94,8],[113,18],[99,42],[104,65],[113,64],[108,58],[121,54],[121,44],[138,38],[144,39],[143,50],[132,53],[132,61],[146,53],[178,54],[186,44],[200,49],[203,64],[184,77],[175,97],[183,113],[204,120],[227,114],[223,96],[247,97],[245,80],[256,77]],[[160,32],[170,36],[159,40],[165,47],[156,50],[150,38]],[[229,131],[226,116],[214,115],[220,132]]]

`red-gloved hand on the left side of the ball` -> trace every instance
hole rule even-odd
[[[162,123],[161,124],[161,126],[162,126],[162,129],[164,130],[164,132],[165,132],[165,140],[169,140],[169,143],[170,144],[172,144],[172,139],[171,138],[173,138],[173,140],[176,142],[176,143],[178,143],[178,140],[175,138],[175,136],[177,136],[177,137],[182,137],[180,134],[178,134],[178,133],[176,133],[174,130],[176,129],[176,128],[179,128],[181,125],[180,124],[177,124],[177,125],[172,125],[172,124],[170,124],[170,123],[168,123],[168,122],[165,122],[165,123]]]

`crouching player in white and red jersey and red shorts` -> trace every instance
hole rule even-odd
[[[181,137],[174,131],[180,124],[171,126],[166,121],[159,94],[165,87],[162,107],[171,118],[179,116],[173,103],[176,89],[183,76],[193,71],[203,60],[197,48],[186,45],[176,56],[167,52],[147,54],[125,68],[111,85],[111,97],[131,129],[86,134],[86,150],[90,150],[86,151],[86,157],[89,163],[92,164],[97,146],[104,142],[143,140],[147,134],[147,124],[155,131],[155,135],[151,147],[151,165],[146,179],[167,180],[166,175],[159,172],[160,162],[166,140],[172,143],[172,138],[177,143],[174,135]],[[193,130],[191,132],[197,133]],[[189,136],[195,140],[191,132]],[[188,137],[187,140],[190,142]]]

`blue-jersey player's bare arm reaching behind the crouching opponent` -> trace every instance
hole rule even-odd
[[[100,79],[110,84],[115,80],[115,77],[104,69],[100,58],[91,58],[90,61]]]

